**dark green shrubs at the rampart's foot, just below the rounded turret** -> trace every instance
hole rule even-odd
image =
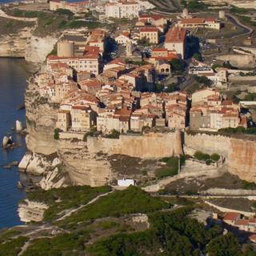
[[[165,178],[178,174],[178,157],[162,158],[162,162],[166,162],[166,168],[156,170],[155,175],[157,178]]]

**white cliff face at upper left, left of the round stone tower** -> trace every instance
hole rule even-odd
[[[47,55],[54,49],[58,38],[47,36],[46,38],[39,38],[32,36],[26,42],[25,59],[27,62],[42,63],[46,60]]]

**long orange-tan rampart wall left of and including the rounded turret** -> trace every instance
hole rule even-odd
[[[182,154],[182,140],[178,132],[143,135],[121,135],[113,138],[87,138],[90,153],[125,154],[134,158],[164,158]]]

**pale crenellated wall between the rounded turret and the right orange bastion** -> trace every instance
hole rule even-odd
[[[202,151],[208,154],[218,153],[228,157],[230,150],[230,138],[222,135],[195,134],[184,135],[184,142],[187,148],[195,151]]]

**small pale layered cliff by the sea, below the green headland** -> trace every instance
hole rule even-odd
[[[41,222],[45,210],[49,206],[42,202],[32,202],[25,199],[18,205],[18,216],[22,222]]]

